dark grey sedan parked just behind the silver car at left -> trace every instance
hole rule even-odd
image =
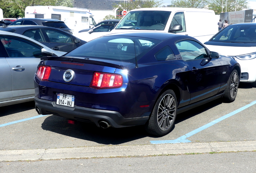
[[[69,52],[86,43],[63,30],[47,26],[9,25],[1,27],[0,30],[22,34],[62,52]]]

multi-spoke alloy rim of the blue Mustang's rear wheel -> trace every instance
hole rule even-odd
[[[157,120],[160,129],[163,131],[168,130],[173,124],[173,119],[175,119],[175,115],[175,99],[171,94],[167,94],[161,99],[158,106]]]

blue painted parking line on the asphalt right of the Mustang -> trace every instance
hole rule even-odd
[[[241,111],[244,111],[244,109],[247,109],[248,107],[251,107],[252,105],[255,105],[255,104],[256,104],[256,101],[253,101],[252,103],[250,103],[250,104],[248,104],[248,105],[246,105],[246,106],[244,106],[244,107],[242,107],[240,109],[237,109],[237,110],[235,110],[235,111],[233,111],[233,112],[231,112],[231,113],[229,113],[227,115],[224,115],[223,117],[220,117],[220,118],[212,121],[211,123],[208,123],[208,124],[206,124],[206,125],[204,125],[202,127],[199,127],[198,129],[193,130],[193,131],[187,133],[186,135],[183,135],[183,136],[181,136],[181,137],[179,137],[177,139],[174,139],[174,140],[162,140],[162,141],[150,141],[150,142],[152,144],[189,143],[191,141],[187,139],[188,137],[191,137],[192,135],[194,135],[194,134],[196,134],[196,133],[198,133],[198,132],[200,132],[200,131],[202,131],[204,129],[207,129],[208,127],[211,127],[212,125],[215,125],[216,123],[219,123],[220,121],[222,121],[222,120],[224,120],[224,119],[226,119],[228,117],[231,117],[231,116],[233,116],[233,115],[235,115],[235,114],[237,114],[237,113],[239,113]]]

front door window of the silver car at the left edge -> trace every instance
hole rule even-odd
[[[9,57],[41,57],[41,47],[24,40],[22,38],[12,36],[0,36]]]

